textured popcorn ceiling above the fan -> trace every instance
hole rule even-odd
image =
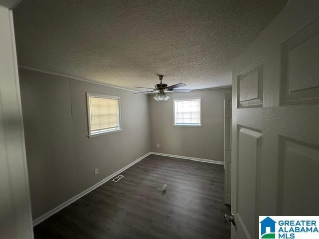
[[[18,64],[110,85],[231,85],[231,60],[287,0],[22,0]]]

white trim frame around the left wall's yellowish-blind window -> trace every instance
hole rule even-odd
[[[101,97],[101,98],[109,98],[109,99],[117,99],[119,102],[119,128],[110,130],[110,131],[102,131],[102,132],[97,132],[97,133],[91,133],[91,117],[90,117],[90,102],[89,102],[89,97],[90,96],[95,96],[95,97]],[[109,133],[115,133],[115,132],[120,132],[122,131],[122,122],[121,122],[121,99],[119,96],[109,96],[109,95],[102,95],[102,94],[96,94],[96,93],[86,93],[86,109],[88,113],[88,137],[93,138],[97,136],[102,136],[105,134]]]

